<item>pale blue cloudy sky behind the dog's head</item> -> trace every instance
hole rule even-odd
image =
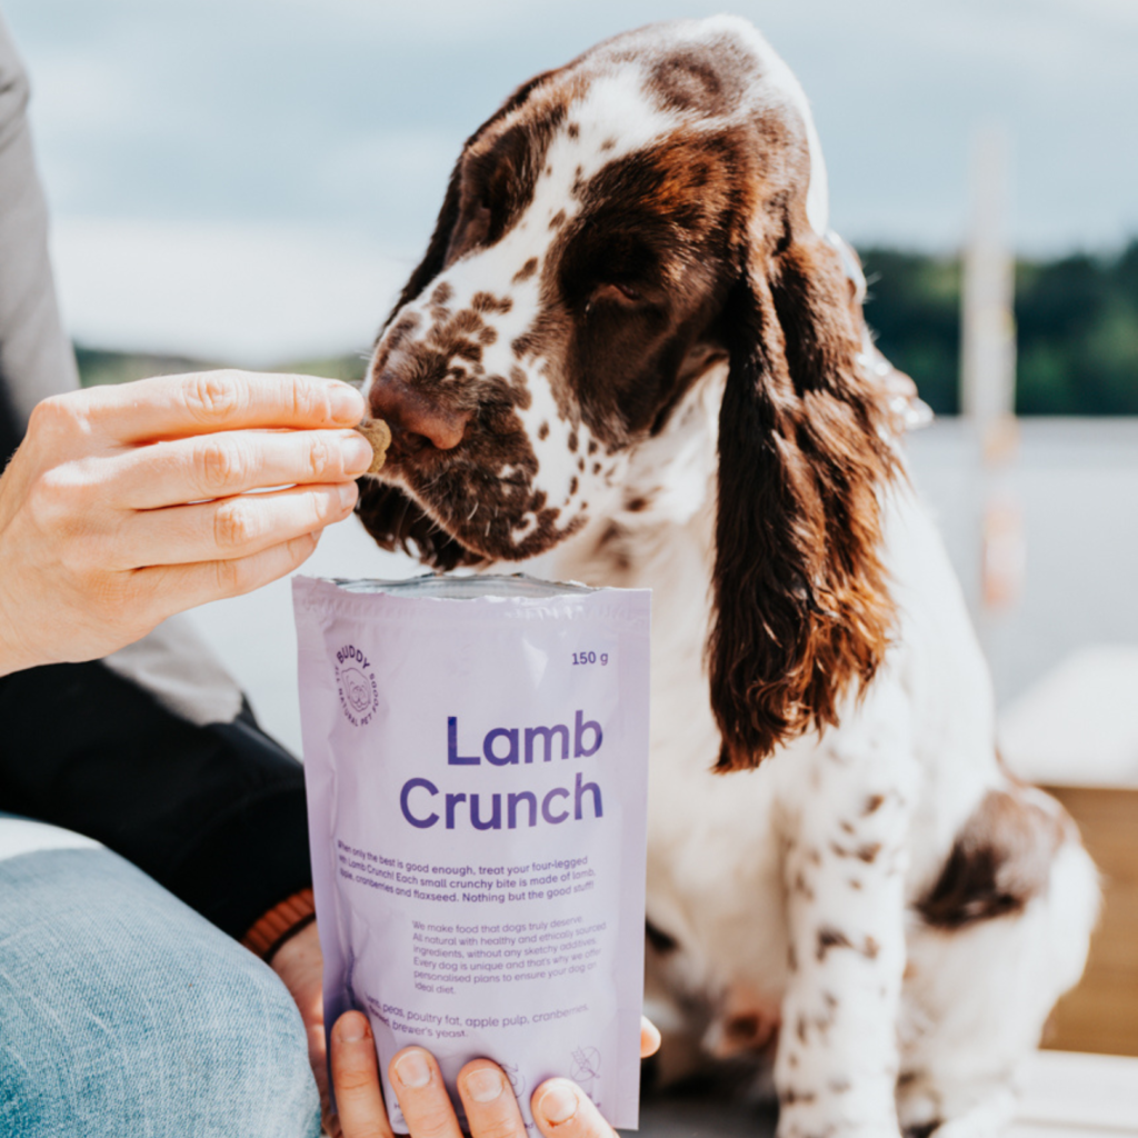
[[[266,363],[365,348],[463,138],[519,82],[701,0],[0,0],[73,331]],[[770,0],[855,242],[959,245],[1001,119],[1019,248],[1138,233],[1133,0]]]

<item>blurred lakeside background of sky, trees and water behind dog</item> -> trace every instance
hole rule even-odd
[[[723,3],[0,7],[94,384],[213,363],[358,378],[463,139],[503,97],[603,36]],[[913,477],[991,660],[1004,753],[1061,787],[1107,872],[1098,971],[1062,1040],[1138,1054],[1138,5],[731,10],[801,80],[869,323],[937,413],[910,437]],[[307,571],[415,568],[351,522]],[[298,750],[287,585],[192,619]]]

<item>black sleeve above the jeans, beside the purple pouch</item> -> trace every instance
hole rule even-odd
[[[89,834],[234,937],[312,884],[300,764],[99,662],[0,678],[0,809]]]

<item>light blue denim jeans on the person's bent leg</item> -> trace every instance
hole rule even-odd
[[[0,1135],[319,1133],[270,967],[98,843],[0,816]]]

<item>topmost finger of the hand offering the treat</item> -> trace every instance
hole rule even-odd
[[[92,388],[60,406],[73,428],[122,443],[249,427],[352,427],[364,415],[363,396],[347,384],[247,371],[160,376]],[[52,421],[53,410],[59,409],[49,407],[41,418],[66,429],[66,421]]]

